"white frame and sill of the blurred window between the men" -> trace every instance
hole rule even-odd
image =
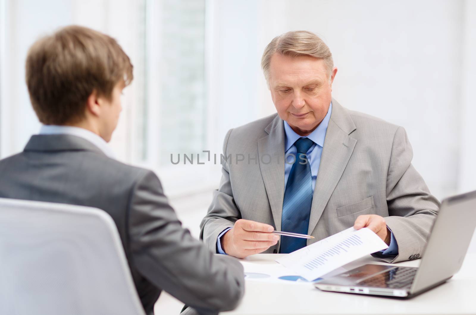
[[[218,154],[217,160],[219,161],[219,154],[221,153],[221,146],[213,146],[216,143],[216,135],[214,135],[213,130],[216,126],[216,117],[212,115],[215,108],[215,102],[211,99],[214,95],[214,84],[213,80],[213,44],[215,34],[213,33],[213,1],[207,0],[205,3],[205,85],[206,85],[206,121],[207,121],[207,130],[206,130],[206,140],[205,147],[203,150],[210,150],[212,155],[211,161],[204,161],[200,157],[200,162],[206,162],[204,165],[197,164],[197,154],[201,152],[193,152],[193,165],[190,165],[187,161],[186,165],[184,163],[184,152],[172,152],[174,161],[177,160],[177,154],[180,154],[180,163],[173,165],[168,162],[167,166],[159,165],[159,150],[160,150],[160,138],[161,130],[160,126],[157,124],[157,121],[160,121],[160,91],[159,89],[150,88],[153,86],[154,82],[160,81],[160,63],[157,57],[159,54],[157,51],[161,49],[160,38],[159,36],[154,36],[155,34],[160,34],[160,8],[159,4],[153,0],[146,1],[146,62],[149,69],[154,69],[153,71],[148,71],[147,73],[147,84],[149,89],[147,89],[146,98],[148,99],[148,121],[147,121],[147,140],[145,145],[148,147],[147,159],[143,161],[133,161],[134,164],[150,168],[154,170],[159,176],[162,185],[165,188],[167,195],[171,198],[178,196],[186,196],[191,194],[196,194],[199,192],[210,191],[211,189],[218,187],[218,182],[220,178],[220,169],[221,165],[217,162],[217,165],[213,164],[213,154]],[[156,105],[157,104],[157,105]],[[179,126],[178,126],[179,128]],[[173,131],[170,131],[173,132]],[[206,154],[205,154],[206,155]]]

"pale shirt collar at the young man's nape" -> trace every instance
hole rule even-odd
[[[116,158],[114,152],[109,148],[108,143],[99,135],[84,128],[71,126],[42,125],[40,135],[72,135],[83,138],[98,147],[104,154],[110,158]]]

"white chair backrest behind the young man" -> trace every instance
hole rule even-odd
[[[145,315],[109,214],[0,198],[0,314]]]

